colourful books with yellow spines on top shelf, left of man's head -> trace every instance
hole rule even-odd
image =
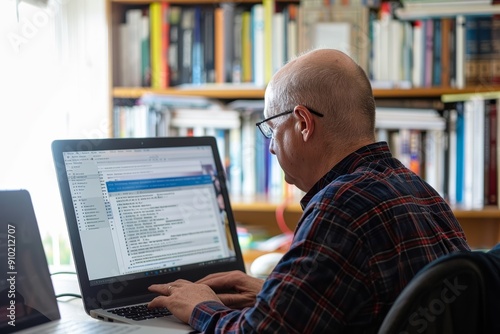
[[[264,85],[297,54],[298,7],[264,0],[245,6],[153,2],[128,9],[115,44],[115,85]]]

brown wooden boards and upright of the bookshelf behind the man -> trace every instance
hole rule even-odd
[[[275,0],[277,3],[295,3],[299,4],[298,0]],[[109,25],[109,64],[110,64],[110,123],[113,124],[113,101],[114,99],[138,99],[144,94],[165,94],[175,96],[201,96],[210,99],[217,99],[223,102],[234,101],[238,99],[263,99],[264,88],[260,86],[248,86],[238,84],[221,84],[221,85],[201,85],[198,87],[183,86],[183,87],[168,87],[168,88],[150,88],[150,87],[128,87],[116,84],[116,72],[119,68],[116,66],[119,57],[116,49],[116,39],[118,35],[117,26],[123,20],[124,12],[131,8],[145,8],[151,0],[107,0],[108,25]],[[161,1],[159,1],[161,2]],[[229,3],[237,3],[238,5],[252,5],[262,3],[259,0],[244,0],[244,1],[224,1]],[[222,1],[214,0],[172,0],[170,4],[190,6],[194,4],[214,5],[222,3]],[[488,12],[492,7],[482,8]],[[495,12],[496,12],[495,8]],[[456,13],[455,13],[456,14]],[[409,16],[408,13],[400,11],[399,15],[405,20],[414,20],[417,17]],[[406,15],[406,16],[405,16]],[[441,14],[436,14],[437,16]],[[443,14],[444,15],[444,14]],[[448,14],[446,14],[448,15]],[[427,14],[421,14],[419,17],[427,17]],[[500,91],[500,86],[494,85],[475,85],[466,86],[465,88],[453,87],[419,87],[411,89],[374,89],[374,95],[377,104],[381,103],[399,103],[398,101],[430,101],[438,106],[436,109],[443,109],[443,96],[457,94],[475,94],[489,93]],[[276,209],[281,203],[276,201],[268,201],[262,198],[246,198],[245,200],[234,198],[232,207],[235,218],[238,222],[245,225],[254,225],[263,227],[269,234],[276,235],[281,231],[276,224]],[[301,215],[301,208],[298,205],[298,200],[294,204],[288,204],[284,208],[284,218],[288,223],[289,228],[293,229]],[[454,208],[454,212],[462,224],[470,244],[477,248],[488,248],[500,242],[500,210],[496,206],[487,206],[478,210],[467,210]]]

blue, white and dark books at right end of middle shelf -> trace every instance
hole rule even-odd
[[[498,127],[496,99],[457,102],[448,121],[448,198],[464,208],[498,205]]]

